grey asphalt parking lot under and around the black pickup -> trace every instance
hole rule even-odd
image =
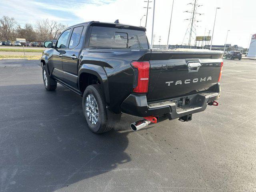
[[[1,192],[256,191],[256,61],[225,60],[220,105],[96,135],[82,98],[48,92],[39,61],[0,61]]]

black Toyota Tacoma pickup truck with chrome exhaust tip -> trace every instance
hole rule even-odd
[[[110,130],[122,112],[142,117],[131,124],[135,131],[160,117],[186,122],[218,105],[222,52],[153,50],[144,27],[94,21],[66,28],[44,47],[46,90],[58,82],[82,96],[94,133]]]

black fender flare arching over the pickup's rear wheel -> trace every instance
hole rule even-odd
[[[88,73],[97,76],[97,78],[100,80],[100,84],[102,85],[102,92],[104,94],[106,103],[110,103],[110,98],[109,98],[109,91],[108,91],[108,77],[105,72],[105,70],[102,68],[102,66],[95,65],[95,64],[82,64],[78,71],[78,89],[80,90],[80,75],[82,73]]]

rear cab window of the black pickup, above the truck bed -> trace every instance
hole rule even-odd
[[[144,31],[93,26],[89,46],[148,49],[148,40]]]

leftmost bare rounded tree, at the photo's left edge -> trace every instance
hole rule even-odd
[[[0,37],[4,40],[10,40],[14,38],[14,27],[16,25],[16,20],[8,16],[2,16],[0,18]]]

